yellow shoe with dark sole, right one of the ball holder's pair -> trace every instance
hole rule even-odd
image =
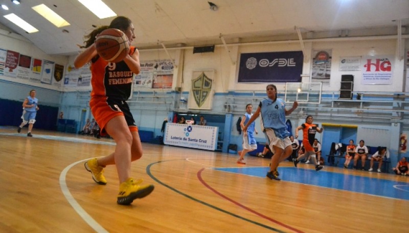
[[[128,205],[134,199],[148,196],[155,187],[153,185],[140,185],[142,182],[142,179],[134,180],[133,178],[128,178],[126,182],[123,182],[119,187],[117,203]]]

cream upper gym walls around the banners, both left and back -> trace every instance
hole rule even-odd
[[[1,29],[0,29],[1,30]],[[4,31],[4,30],[3,30]],[[2,32],[3,32],[2,31]],[[6,35],[5,35],[6,34]],[[65,69],[68,66],[73,66],[76,56],[50,56],[44,54],[39,48],[35,47],[27,39],[17,35],[1,33],[0,45],[3,49],[17,51],[18,53],[32,56],[33,58],[47,59],[63,64]],[[407,39],[403,40],[402,47],[409,46]],[[406,43],[405,43],[406,42]],[[404,91],[404,67],[405,59],[394,61],[393,83],[392,85],[362,85],[360,82],[360,71],[340,72],[339,58],[347,56],[366,56],[370,53],[377,55],[397,55],[397,40],[396,39],[382,39],[382,40],[343,40],[343,41],[324,41],[324,42],[305,42],[305,62],[303,73],[310,73],[311,66],[311,51],[319,49],[332,49],[332,65],[331,65],[331,80],[329,86],[323,86],[323,91],[338,91],[340,76],[342,74],[353,74],[354,91],[379,91],[379,92],[401,92]],[[238,64],[241,53],[259,53],[266,51],[293,51],[301,50],[299,41],[288,43],[265,43],[265,44],[243,44],[228,46],[230,54],[224,46],[218,45],[215,47],[214,53],[193,54],[193,48],[185,49],[168,49],[170,57],[175,60],[177,67],[174,69],[174,83],[173,89],[181,87],[182,91],[189,91],[191,87],[192,72],[194,70],[215,70],[215,91],[226,92],[228,90],[264,90],[266,84],[239,84],[237,83]],[[403,49],[403,48],[402,48]],[[403,51],[402,51],[402,54]],[[140,59],[142,61],[155,59],[169,59],[164,49],[149,49],[140,50]],[[233,62],[234,64],[233,64]],[[89,90],[88,87],[73,87],[71,89],[60,89],[52,85],[37,84],[28,80],[15,79],[7,76],[0,76],[0,79],[18,82],[26,85],[43,87],[54,90],[73,91],[73,90]],[[183,85],[181,85],[183,82]],[[279,89],[283,89],[284,85],[278,84]]]

